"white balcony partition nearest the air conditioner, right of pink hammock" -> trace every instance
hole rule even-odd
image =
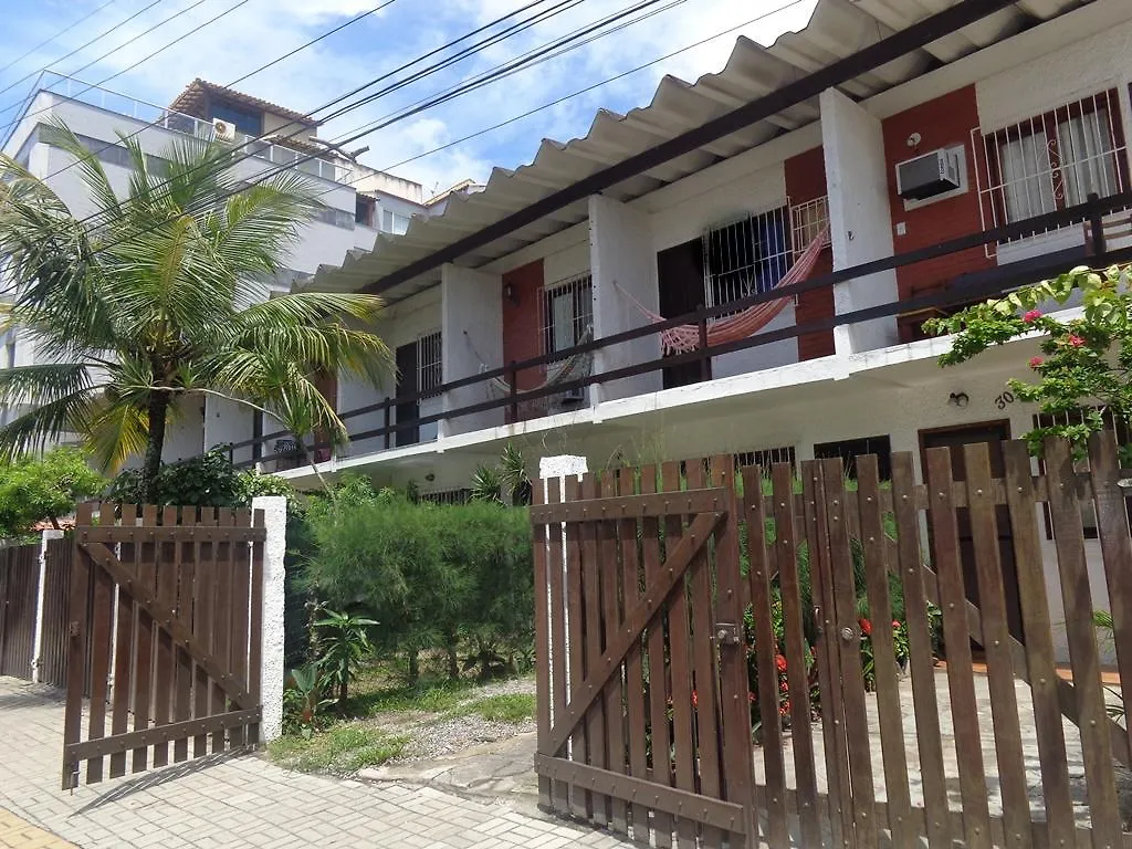
[[[822,93],[822,145],[830,196],[833,268],[891,257],[892,212],[881,121],[837,89]],[[837,315],[895,302],[895,271],[871,274],[833,289]],[[895,316],[842,325],[833,331],[839,355],[894,345]]]

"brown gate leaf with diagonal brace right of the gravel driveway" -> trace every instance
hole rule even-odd
[[[657,846],[753,834],[731,463],[551,481],[532,508],[548,808]]]

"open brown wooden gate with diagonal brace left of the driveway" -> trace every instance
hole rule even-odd
[[[84,761],[93,783],[108,758],[114,778],[257,744],[263,514],[252,524],[249,511],[103,504],[93,520],[93,505],[83,505],[70,569],[63,789],[78,784]]]

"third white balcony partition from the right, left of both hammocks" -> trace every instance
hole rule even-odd
[[[440,346],[444,381],[498,368],[503,361],[503,280],[451,263],[440,269]],[[494,397],[487,381],[444,393],[444,409],[457,410]],[[466,434],[504,423],[504,409],[487,410],[444,422],[440,436]]]

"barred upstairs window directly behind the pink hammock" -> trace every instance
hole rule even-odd
[[[712,228],[703,234],[704,297],[709,307],[769,292],[790,269],[790,207],[781,206]]]

